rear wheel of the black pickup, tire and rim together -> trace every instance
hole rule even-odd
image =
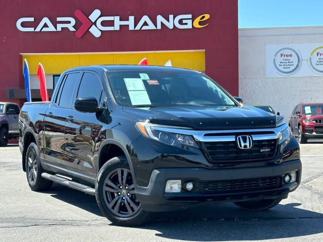
[[[32,191],[50,189],[52,181],[42,178],[42,172],[43,169],[40,164],[38,147],[35,143],[31,143],[26,152],[26,175],[28,185]]]

